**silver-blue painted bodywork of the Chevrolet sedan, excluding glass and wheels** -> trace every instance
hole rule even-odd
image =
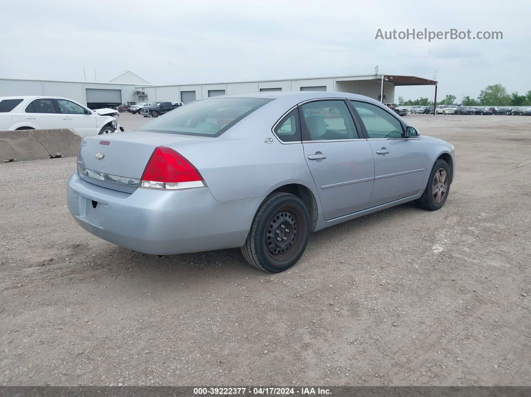
[[[245,96],[274,100],[217,138],[134,131],[106,136],[109,146],[98,145],[98,137],[85,138],[81,154],[87,167],[140,178],[153,149],[164,145],[194,164],[207,188],[124,192],[118,186],[108,189],[89,183],[75,173],[68,182],[67,201],[76,222],[105,240],[145,253],[233,248],[244,244],[264,198],[285,184],[309,189],[318,210],[314,230],[320,230],[420,197],[436,158],[443,153],[453,158],[448,142],[427,136],[284,144],[272,133],[272,127],[304,101],[357,99],[396,116],[378,101],[344,92]],[[272,143],[265,143],[266,138],[272,138]],[[375,150],[382,146],[390,153],[375,162],[379,156]],[[89,163],[96,150],[105,158],[101,163]],[[328,157],[322,162],[307,160],[307,154],[317,151]],[[455,161],[453,166],[455,170]],[[101,203],[100,213],[92,211],[91,200]]]

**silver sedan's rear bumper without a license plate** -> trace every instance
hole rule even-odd
[[[156,255],[243,246],[261,201],[216,201],[207,188],[136,189],[130,194],[86,182],[77,172],[67,185],[68,210],[82,228],[114,244]]]

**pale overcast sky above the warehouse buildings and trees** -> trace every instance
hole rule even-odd
[[[152,84],[372,74],[439,81],[439,96],[486,85],[531,90],[529,1],[2,2],[0,78]],[[503,40],[375,40],[382,30],[502,31]],[[2,93],[0,93],[1,95]],[[408,98],[433,87],[398,87]]]

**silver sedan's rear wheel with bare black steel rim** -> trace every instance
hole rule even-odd
[[[255,268],[277,273],[301,258],[309,236],[310,214],[304,202],[289,193],[273,193],[256,212],[241,250]]]

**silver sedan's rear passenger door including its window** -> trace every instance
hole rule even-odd
[[[299,105],[302,143],[324,219],[369,207],[374,179],[371,146],[345,100],[316,100]]]

